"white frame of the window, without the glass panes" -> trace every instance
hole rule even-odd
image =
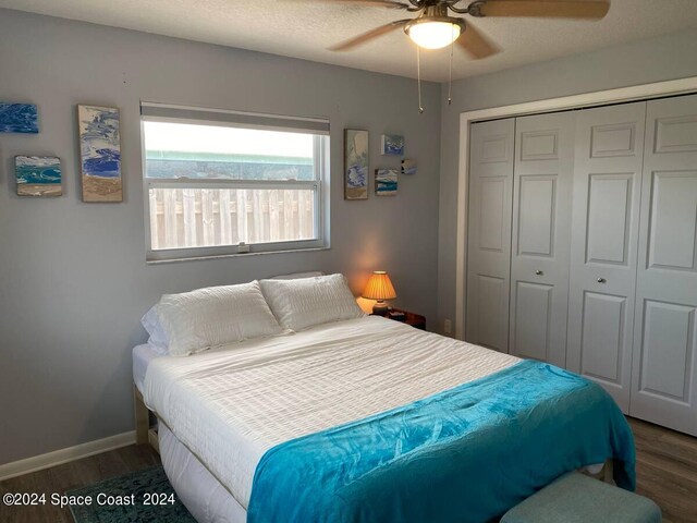
[[[160,104],[142,102],[140,105],[140,150],[143,153],[143,194],[145,208],[145,242],[146,262],[184,262],[191,259],[207,259],[228,256],[248,256],[255,254],[284,253],[297,251],[327,250],[329,242],[329,121],[326,119],[303,119],[291,117],[278,117],[271,114],[259,114],[249,112],[198,109],[181,106],[164,106]],[[144,110],[144,108],[147,108]],[[147,112],[160,114],[146,114]],[[201,118],[188,118],[188,114],[196,117],[200,112]],[[171,113],[172,115],[162,115]],[[182,118],[181,113],[187,114]],[[289,125],[284,125],[286,120]],[[265,124],[265,121],[271,124]],[[260,129],[265,131],[280,132],[302,132],[305,134],[316,133],[311,125],[319,122],[326,125],[326,132],[317,132],[314,135],[314,168],[315,180],[227,180],[227,179],[156,179],[147,178],[145,149],[145,122],[167,122],[203,125],[220,125],[237,129]],[[273,123],[281,123],[281,125]],[[295,122],[309,123],[309,129],[293,127]],[[150,238],[150,188],[260,188],[260,190],[311,190],[315,192],[315,232],[316,238],[310,240],[294,240],[283,242],[267,242],[237,245],[215,245],[206,247],[180,247],[180,248],[151,248]]]

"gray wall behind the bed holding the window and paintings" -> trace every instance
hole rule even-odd
[[[0,100],[38,104],[40,134],[0,135],[0,464],[133,428],[131,349],[160,294],[308,269],[356,288],[390,271],[396,305],[436,315],[440,86],[0,10]],[[148,266],[140,99],[331,121],[330,251]],[[121,109],[125,202],[84,204],[75,106]],[[344,127],[404,134],[415,177],[398,196],[344,202]],[[15,155],[56,155],[60,198],[20,198]],[[372,191],[372,188],[371,188]]]

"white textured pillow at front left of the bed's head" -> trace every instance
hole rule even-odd
[[[258,281],[164,294],[156,311],[172,355],[283,332]]]

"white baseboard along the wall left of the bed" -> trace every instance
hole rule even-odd
[[[135,443],[135,430],[0,465],[0,482]]]

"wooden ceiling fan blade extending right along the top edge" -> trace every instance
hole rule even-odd
[[[607,0],[487,0],[479,11],[484,16],[600,20],[609,9]]]

